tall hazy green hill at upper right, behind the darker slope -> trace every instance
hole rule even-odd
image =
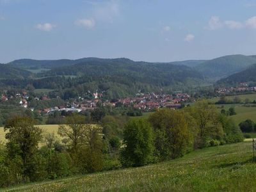
[[[237,54],[205,61],[195,68],[199,72],[202,72],[205,77],[221,79],[237,72],[241,72],[254,63],[256,63],[256,58]]]

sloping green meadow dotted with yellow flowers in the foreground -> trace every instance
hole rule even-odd
[[[204,148],[166,163],[81,175],[6,191],[255,191],[252,141]]]

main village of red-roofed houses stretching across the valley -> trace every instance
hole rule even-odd
[[[84,99],[83,97],[78,97],[72,102],[65,102],[65,104],[61,106],[51,106],[51,108],[31,108],[29,102],[35,100],[36,102],[44,102],[49,101],[47,95],[42,97],[33,97],[30,98],[27,92],[17,93],[14,97],[7,95],[1,95],[1,101],[8,101],[10,99],[16,99],[17,104],[20,107],[30,109],[31,111],[36,111],[37,113],[45,113],[51,114],[55,111],[65,111],[69,113],[81,111],[93,111],[93,109],[97,108],[97,106],[103,107],[111,107],[116,108],[120,106],[124,106],[126,108],[132,107],[135,109],[140,109],[141,112],[154,111],[154,109],[158,108],[171,108],[171,109],[179,109],[182,108],[182,104],[184,102],[188,102],[190,96],[187,93],[176,93],[173,95],[168,94],[157,94],[157,93],[137,93],[134,97],[127,97],[124,99],[113,99],[106,100],[103,99],[102,93],[93,93],[92,99]]]

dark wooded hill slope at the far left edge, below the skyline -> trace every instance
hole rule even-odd
[[[0,79],[23,79],[29,76],[31,76],[31,72],[27,70],[0,64]]]

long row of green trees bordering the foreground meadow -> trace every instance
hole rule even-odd
[[[54,134],[44,134],[28,116],[6,123],[0,147],[0,186],[58,179],[168,161],[197,148],[243,141],[240,129],[207,102],[177,111],[161,109],[127,122],[105,116],[85,124],[71,115]]]

